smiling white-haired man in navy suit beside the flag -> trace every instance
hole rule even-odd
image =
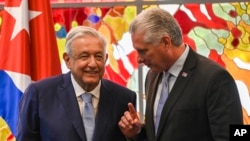
[[[95,29],[71,29],[63,55],[70,72],[27,88],[20,103],[17,141],[126,141],[117,123],[127,103],[136,104],[136,94],[102,78],[107,57],[106,40]],[[82,96],[87,94],[93,106],[93,118],[88,119],[95,121],[89,127],[82,119],[90,109],[83,108],[88,102]]]

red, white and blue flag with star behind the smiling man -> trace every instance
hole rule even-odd
[[[61,73],[49,0],[5,1],[0,56],[0,117],[15,136],[27,86]]]

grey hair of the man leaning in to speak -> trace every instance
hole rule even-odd
[[[166,10],[152,8],[141,12],[129,26],[129,32],[144,33],[144,42],[159,45],[168,35],[175,46],[182,44],[182,31],[176,19]]]

